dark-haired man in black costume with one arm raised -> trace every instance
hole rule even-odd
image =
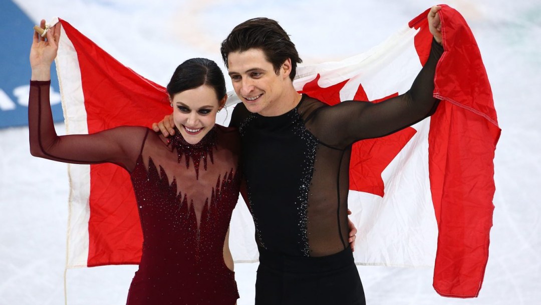
[[[365,304],[347,235],[351,146],[401,130],[436,109],[434,71],[443,53],[439,9],[428,13],[431,55],[411,89],[378,104],[328,106],[296,92],[292,82],[302,60],[271,19],[250,19],[223,40],[222,58],[242,101],[230,126],[241,135],[260,253],[257,305]],[[155,130],[165,134],[170,126],[165,120]]]

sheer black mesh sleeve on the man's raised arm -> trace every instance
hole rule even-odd
[[[406,93],[377,104],[351,100],[321,107],[312,114],[307,127],[325,144],[344,148],[358,140],[396,132],[430,116],[439,102],[433,97],[434,73],[442,54],[443,47],[432,40],[430,56]]]

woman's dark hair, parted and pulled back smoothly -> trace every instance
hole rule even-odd
[[[167,84],[167,93],[172,99],[176,93],[202,85],[213,87],[218,100],[226,95],[226,80],[220,67],[207,58],[191,58],[176,67]]]

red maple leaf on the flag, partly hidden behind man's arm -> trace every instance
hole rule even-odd
[[[299,93],[306,93],[308,96],[319,99],[329,105],[340,103],[340,90],[342,90],[349,79],[325,88],[319,86],[319,79],[320,75],[318,74],[314,80],[306,83]],[[371,100],[371,102],[379,103],[394,96],[398,96],[398,93]],[[366,92],[361,85],[359,85],[353,99],[368,100]],[[351,161],[349,162],[349,189],[382,197],[385,194],[385,186],[381,178],[381,173],[402,148],[404,148],[415,132],[417,131],[414,128],[407,127],[385,137],[361,140],[354,143],[351,152]]]

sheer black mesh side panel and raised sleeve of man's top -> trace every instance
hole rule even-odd
[[[443,49],[433,42],[426,65],[411,89],[378,104],[344,101],[328,106],[304,97],[298,113],[319,144],[308,195],[307,234],[311,256],[339,252],[348,246],[347,196],[351,145],[382,137],[420,121],[436,110],[434,71]]]

